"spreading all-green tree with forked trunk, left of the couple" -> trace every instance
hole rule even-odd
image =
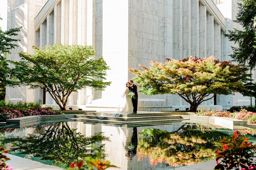
[[[45,87],[61,110],[66,110],[72,92],[86,86],[104,90],[111,84],[103,82],[109,67],[102,57],[92,59],[95,54],[92,46],[54,44],[44,50],[35,46],[33,49],[35,54],[19,53],[22,61],[9,61],[15,66],[10,70],[14,76],[10,86]]]

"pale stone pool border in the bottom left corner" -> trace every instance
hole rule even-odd
[[[13,170],[63,170],[52,165],[46,165],[30,159],[21,158],[19,156],[7,154],[7,158],[11,160],[6,161],[7,166],[12,166]]]

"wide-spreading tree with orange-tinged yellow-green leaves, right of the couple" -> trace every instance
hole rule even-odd
[[[196,111],[199,104],[213,98],[210,94],[232,94],[244,90],[243,83],[249,80],[248,68],[220,62],[209,58],[184,60],[167,59],[165,64],[152,61],[145,71],[129,69],[136,77],[133,79],[142,87],[140,92],[148,95],[178,94]]]

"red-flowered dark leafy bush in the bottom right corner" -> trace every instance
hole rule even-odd
[[[256,169],[256,145],[248,142],[249,138],[240,135],[238,131],[234,131],[234,135],[228,139],[223,137],[220,139],[222,145],[217,148],[217,166],[219,170],[252,170]]]

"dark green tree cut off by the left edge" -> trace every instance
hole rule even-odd
[[[3,19],[0,17],[0,20]],[[8,31],[2,31],[2,28],[0,27],[0,100],[5,98],[6,75],[8,70],[6,53],[10,54],[11,49],[19,47],[18,45],[12,43],[20,40],[13,39],[11,36],[17,36],[21,28],[22,27],[11,28]]]

